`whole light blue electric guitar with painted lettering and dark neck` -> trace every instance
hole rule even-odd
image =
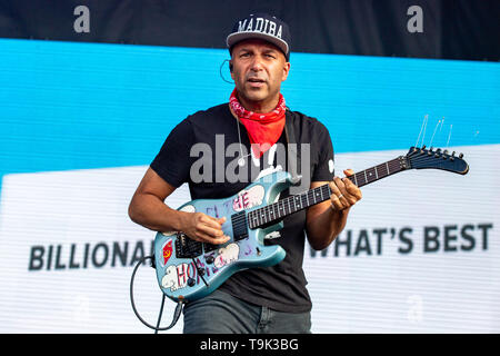
[[[441,169],[466,175],[463,155],[447,150],[411,147],[406,156],[359,171],[348,178],[358,187],[408,169]],[[286,251],[279,245],[264,246],[264,236],[281,229],[282,219],[293,212],[330,199],[323,185],[276,201],[292,185],[289,172],[261,177],[246,189],[224,199],[198,199],[184,204],[182,211],[201,211],[227,218],[222,230],[230,240],[211,245],[192,240],[182,231],[158,233],[154,238],[154,266],[160,289],[172,300],[191,301],[216,290],[236,271],[280,263]],[[276,202],[273,202],[276,201]]]

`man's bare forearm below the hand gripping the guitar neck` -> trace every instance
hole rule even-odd
[[[350,208],[343,210],[328,208],[308,221],[308,240],[313,249],[327,248],[340,235],[346,227],[349,210]]]

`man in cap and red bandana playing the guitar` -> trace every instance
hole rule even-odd
[[[310,180],[307,188],[329,184],[332,195],[286,218],[283,229],[267,239],[266,244],[279,244],[287,251],[281,263],[236,273],[211,295],[188,303],[184,333],[310,333],[311,300],[302,270],[306,233],[312,248],[329,246],[344,228],[361,191],[347,178],[333,178],[333,148],[326,127],[284,106],[280,88],[290,72],[288,26],[269,14],[251,14],[236,23],[227,44],[236,83],[229,103],[196,112],[170,132],[140,182],[129,215],[152,230],[183,231],[198,241],[227,243],[223,218],[177,211],[164,205],[164,199],[183,182],[189,184],[192,199],[230,197],[260,177],[267,162],[271,162],[267,171],[278,169],[274,148],[288,145],[284,126],[289,120],[297,144],[309,148],[300,149],[301,162],[306,162],[301,164],[302,177]],[[239,147],[236,168],[238,177],[243,177],[239,181],[227,177],[233,159],[217,157],[221,138],[226,147]],[[214,165],[199,169],[192,150],[196,145],[213,148],[210,158]],[[281,198],[289,194],[283,191]]]

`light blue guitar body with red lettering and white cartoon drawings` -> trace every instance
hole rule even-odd
[[[249,212],[272,204],[292,185],[284,171],[256,180],[242,191],[224,199],[198,199],[178,210],[226,217],[222,225],[228,243],[210,245],[190,239],[180,231],[158,233],[154,238],[154,261],[161,290],[172,300],[190,301],[216,290],[232,274],[252,267],[280,263],[286,251],[278,245],[264,246],[264,236],[282,228],[282,222],[250,228]],[[262,225],[253,217],[254,226]]]

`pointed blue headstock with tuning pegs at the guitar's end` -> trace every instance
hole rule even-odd
[[[469,165],[463,160],[463,154],[454,156],[448,150],[441,151],[440,148],[433,150],[432,147],[427,149],[426,146],[421,148],[411,147],[406,158],[409,164],[409,168],[414,169],[442,169],[459,175],[467,175],[469,171]]]

